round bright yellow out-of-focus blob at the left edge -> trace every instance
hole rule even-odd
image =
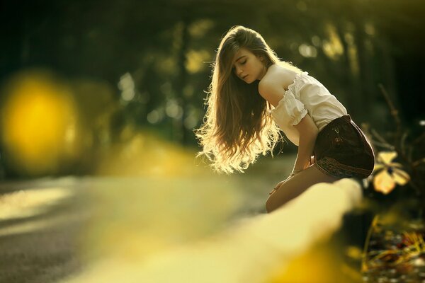
[[[67,88],[43,72],[13,78],[5,91],[1,137],[8,159],[20,173],[56,173],[74,154],[76,110]]]

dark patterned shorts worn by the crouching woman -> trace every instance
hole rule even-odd
[[[313,154],[319,170],[336,178],[367,178],[375,166],[372,146],[350,115],[319,132]]]

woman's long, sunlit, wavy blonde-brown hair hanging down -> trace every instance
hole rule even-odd
[[[259,154],[271,151],[273,156],[272,149],[282,139],[278,126],[266,115],[271,105],[260,96],[259,81],[245,83],[232,71],[234,56],[242,47],[263,57],[267,68],[283,64],[300,71],[288,62],[281,62],[255,30],[237,25],[222,38],[212,63],[203,125],[195,129],[203,147],[197,157],[207,156],[219,173],[244,172]]]

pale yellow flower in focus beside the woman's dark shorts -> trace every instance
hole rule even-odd
[[[373,185],[375,190],[387,195],[391,192],[395,185],[406,185],[410,180],[409,174],[402,169],[402,164],[392,162],[397,157],[395,151],[381,151],[378,154],[378,162],[375,164],[373,172]],[[377,172],[380,173],[377,174]]]

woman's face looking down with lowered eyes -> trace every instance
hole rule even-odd
[[[234,55],[233,71],[239,79],[246,83],[261,80],[266,74],[263,59],[245,48],[239,49]]]

